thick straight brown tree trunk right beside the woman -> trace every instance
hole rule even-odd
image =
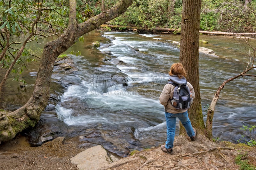
[[[180,62],[187,71],[187,80],[195,89],[195,99],[188,110],[192,126],[204,133],[205,126],[201,108],[199,90],[199,22],[201,0],[183,0],[181,35],[180,35]],[[186,134],[180,124],[180,134]]]

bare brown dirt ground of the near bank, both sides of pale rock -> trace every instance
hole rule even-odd
[[[84,151],[77,138],[56,138],[42,146],[31,147],[25,137],[0,145],[1,170],[68,170],[77,169],[70,158]],[[132,156],[120,159],[108,167],[112,170],[175,170],[175,169],[239,169],[235,163],[237,154],[246,154],[246,159],[256,166],[256,147],[236,145],[229,142],[212,143],[200,135],[191,142],[188,137],[175,138],[173,154],[162,152],[159,147],[133,152]],[[97,165],[95,165],[97,169]]]

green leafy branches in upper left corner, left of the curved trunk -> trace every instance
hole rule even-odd
[[[22,74],[28,62],[36,61],[30,57],[36,54],[33,54],[34,50],[29,49],[27,44],[31,41],[38,43],[38,40],[45,38],[49,31],[64,31],[68,25],[69,7],[63,0],[0,0],[0,12],[0,29],[4,31],[0,39],[0,52],[3,56],[0,63],[2,68],[12,69],[13,80],[26,85],[25,80],[19,80],[19,74]],[[17,42],[16,38],[21,34],[33,36],[26,42]],[[18,53],[23,44],[25,48]],[[7,49],[6,52],[4,49]],[[10,68],[14,61],[14,67]]]

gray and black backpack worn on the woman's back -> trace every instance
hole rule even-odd
[[[187,81],[182,85],[176,84],[172,81],[169,81],[168,83],[175,87],[172,99],[170,99],[172,106],[178,110],[188,109],[193,103],[193,98],[190,96],[191,92],[187,86]]]

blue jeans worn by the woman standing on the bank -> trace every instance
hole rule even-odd
[[[185,127],[189,137],[195,136],[195,132],[188,118],[188,111],[183,113],[168,113],[165,112],[166,126],[167,126],[167,141],[165,142],[165,148],[173,148],[173,141],[175,136],[176,118],[180,119],[180,122]]]

